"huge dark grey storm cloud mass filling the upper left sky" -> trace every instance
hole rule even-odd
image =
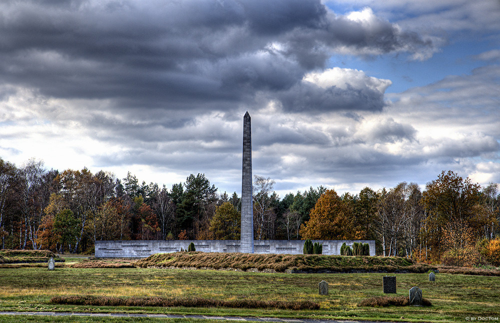
[[[7,2],[0,22],[3,83],[118,108],[224,111],[265,92],[291,111],[380,110],[376,91],[300,81],[338,50],[434,49],[371,11],[335,15],[319,0]]]

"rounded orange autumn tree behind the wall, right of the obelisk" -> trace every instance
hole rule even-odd
[[[354,238],[352,210],[334,190],[327,190],[310,212],[309,221],[300,227],[302,239],[342,240]]]

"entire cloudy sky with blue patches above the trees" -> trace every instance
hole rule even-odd
[[[500,182],[498,0],[0,1],[0,157],[241,193]]]

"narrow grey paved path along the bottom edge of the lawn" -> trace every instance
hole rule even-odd
[[[337,321],[311,319],[279,319],[279,318],[242,318],[217,317],[205,315],[173,315],[173,314],[128,314],[128,313],[72,313],[72,312],[0,312],[1,315],[30,315],[52,317],[119,317],[119,318],[159,318],[159,319],[206,319],[245,322],[281,322],[281,323],[383,323],[370,321]],[[1,317],[0,317],[1,318]]]

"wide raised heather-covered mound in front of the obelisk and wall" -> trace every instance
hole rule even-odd
[[[154,254],[133,263],[137,267],[232,268],[247,271],[284,272],[407,272],[426,273],[435,267],[400,257],[276,255],[240,253],[176,252]]]

